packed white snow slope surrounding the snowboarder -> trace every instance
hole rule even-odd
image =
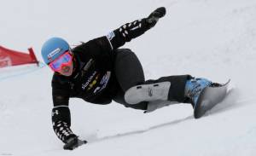
[[[255,0],[9,0],[1,3],[1,45],[21,51],[32,46],[42,60],[41,46],[50,37],[71,45],[86,42],[160,6],[166,16],[124,47],[136,52],[146,78],[187,73],[219,83],[231,78],[223,102],[195,119],[188,104],[143,114],[114,102],[100,106],[72,99],[73,132],[89,143],[65,151],[51,127],[52,72],[5,68],[0,70],[0,155],[255,155]],[[22,70],[32,72],[3,78]]]

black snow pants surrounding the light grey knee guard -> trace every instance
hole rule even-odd
[[[113,101],[123,104],[125,107],[147,110],[148,101],[142,101],[134,105],[125,102],[125,91],[135,85],[154,84],[166,81],[171,82],[168,101],[188,102],[188,98],[184,96],[184,88],[187,80],[191,78],[190,75],[167,76],[156,80],[149,79],[145,81],[143,66],[138,60],[137,55],[131,49],[115,50],[114,74],[118,83],[118,89],[116,95],[113,97]]]

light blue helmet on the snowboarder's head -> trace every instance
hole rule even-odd
[[[69,45],[64,39],[49,38],[41,49],[41,55],[44,59],[44,63],[49,64],[69,49]]]

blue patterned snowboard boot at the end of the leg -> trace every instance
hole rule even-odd
[[[206,78],[189,79],[185,85],[185,96],[189,97],[191,104],[195,107],[201,91],[213,83]]]

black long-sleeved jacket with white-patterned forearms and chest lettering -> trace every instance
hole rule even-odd
[[[52,78],[52,122],[55,134],[62,142],[75,136],[70,130],[69,98],[78,97],[97,104],[110,103],[115,94],[114,49],[118,49],[132,38],[137,38],[149,28],[146,19],[135,20],[120,26],[107,36],[92,39],[73,49],[73,75],[66,77],[55,73]]]

